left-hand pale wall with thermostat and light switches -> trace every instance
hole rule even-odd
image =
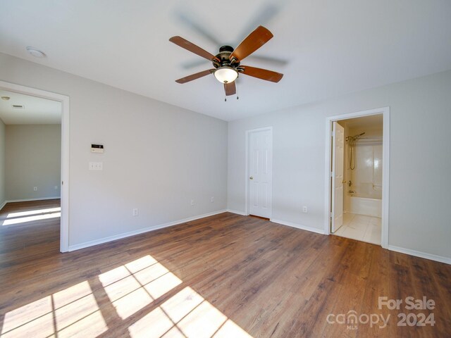
[[[226,208],[226,122],[5,54],[0,65],[0,80],[70,96],[70,246]]]

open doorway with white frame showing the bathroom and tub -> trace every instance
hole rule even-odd
[[[388,114],[328,118],[326,234],[388,246]]]

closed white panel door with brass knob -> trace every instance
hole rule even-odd
[[[249,214],[271,218],[273,132],[249,133]]]

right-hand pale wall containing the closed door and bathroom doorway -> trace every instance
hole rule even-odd
[[[448,71],[230,122],[228,208],[245,211],[245,130],[272,125],[273,218],[323,230],[326,116],[390,106],[389,245],[451,258],[450,93]]]

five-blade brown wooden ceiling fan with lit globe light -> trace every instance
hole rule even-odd
[[[183,39],[183,37],[171,37],[171,39],[169,39],[170,42],[206,58],[211,61],[214,66],[212,69],[182,77],[181,79],[175,80],[175,82],[186,83],[199,79],[199,77],[214,74],[216,80],[224,84],[226,96],[236,94],[235,80],[240,73],[257,77],[261,80],[279,82],[283,77],[283,74],[281,73],[240,64],[244,58],[254,53],[254,51],[257,51],[257,49],[266,44],[272,37],[273,35],[268,29],[259,26],[249,34],[235,50],[231,46],[222,46],[216,56],[199,46],[196,46],[192,42]]]

